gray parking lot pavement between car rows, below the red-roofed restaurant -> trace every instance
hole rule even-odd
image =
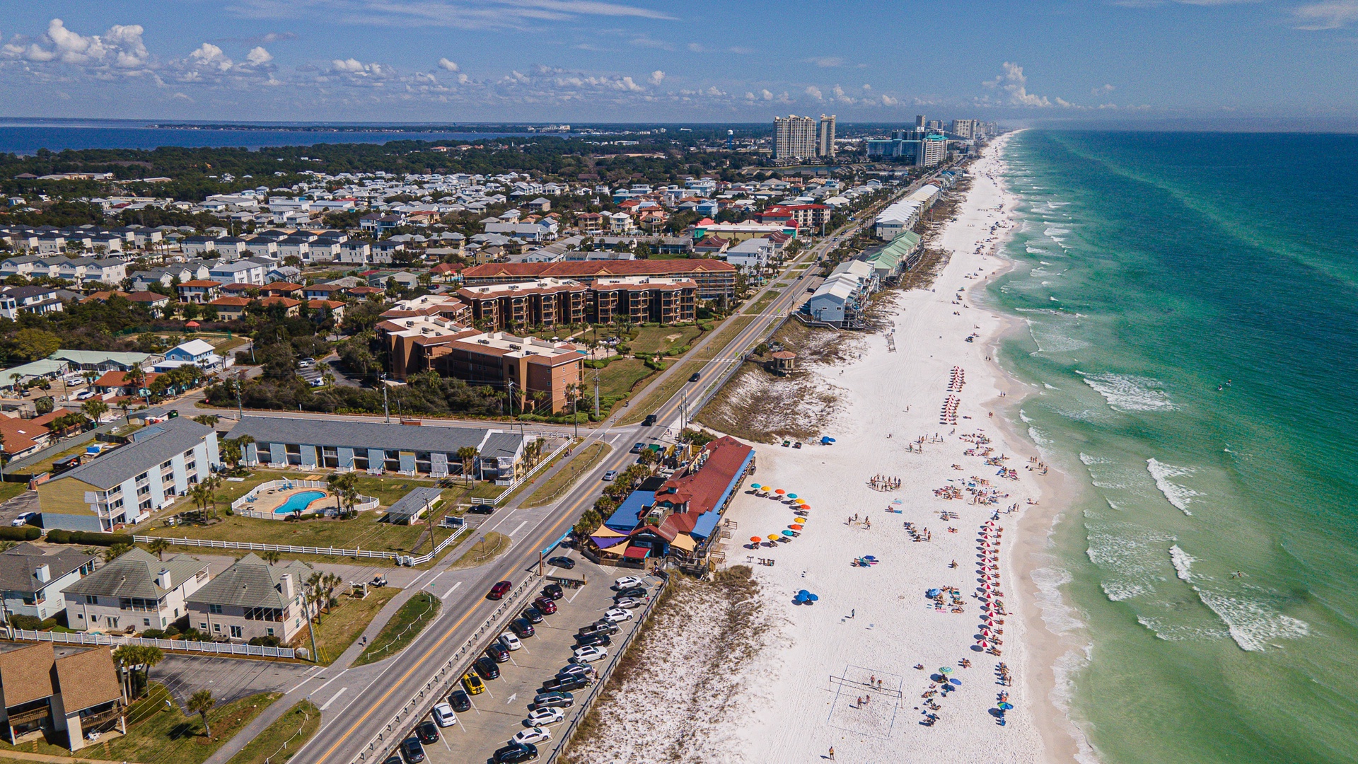
[[[646,590],[655,594],[659,579],[642,576],[640,571],[627,568],[600,567],[570,555],[576,560],[574,570],[562,571],[547,568],[547,575],[568,575],[572,578],[585,578],[588,583],[580,589],[566,589],[565,595],[557,600],[557,612],[545,616],[542,623],[535,624],[535,635],[523,639],[523,647],[509,653],[509,661],[497,663],[500,677],[485,681],[485,692],[471,696],[473,707],[458,714],[458,723],[440,730],[440,740],[425,745],[425,753],[430,764],[454,764],[466,761],[489,761],[496,749],[504,746],[516,733],[527,727],[524,723],[528,715],[528,706],[542,688],[542,684],[555,676],[564,666],[569,665],[572,650],[576,647],[576,632],[587,627],[612,608],[615,591],[611,589],[615,579],[625,575],[638,575],[645,579]],[[528,606],[526,602],[524,606]],[[631,612],[640,616],[642,609]],[[606,647],[608,657],[604,661],[589,663],[598,670],[603,670],[614,657],[615,648],[623,639],[637,628],[637,619],[618,624],[618,632],[611,636],[611,644]],[[483,655],[485,653],[481,653]],[[592,688],[584,687],[570,691],[576,700],[583,700]],[[554,746],[555,733],[565,730],[572,719],[580,714],[580,703],[565,708],[561,720],[543,725],[553,733],[553,741],[538,742],[540,757],[546,757]],[[424,719],[428,719],[426,715]],[[422,719],[422,720],[424,720]]]

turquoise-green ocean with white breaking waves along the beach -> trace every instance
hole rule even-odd
[[[1097,760],[1358,761],[1358,137],[1027,131],[1001,362]],[[1229,385],[1228,385],[1229,381]]]

